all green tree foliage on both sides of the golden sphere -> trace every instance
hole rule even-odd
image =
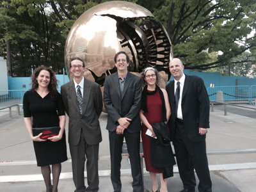
[[[64,36],[81,14],[107,1],[0,0],[0,56],[6,58],[6,41],[11,40],[15,75],[27,75],[26,71],[29,74],[31,67],[40,64],[52,66],[58,73],[64,65]],[[225,74],[222,66],[248,62],[245,51],[250,53],[250,62],[255,60],[255,35],[248,35],[256,28],[256,0],[129,2],[147,8],[164,25],[174,56],[184,61],[185,68],[197,71],[216,68]]]

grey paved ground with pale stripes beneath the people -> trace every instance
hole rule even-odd
[[[250,106],[248,104],[239,104]],[[227,116],[224,116],[223,106],[214,106],[211,112],[211,129],[207,133],[207,151],[209,152],[209,168],[211,170],[212,191],[256,191],[256,153],[211,155],[211,152],[233,151],[256,148],[256,112],[255,109],[243,109],[228,106]],[[113,191],[109,173],[109,142],[106,131],[106,113],[100,116],[103,141],[100,143],[100,190]],[[67,124],[66,124],[67,127]],[[68,129],[66,128],[66,132]],[[69,149],[68,149],[69,150]],[[234,152],[233,152],[234,153]],[[68,152],[68,157],[70,154]],[[104,158],[106,157],[106,158]],[[6,163],[6,161],[13,161]],[[182,189],[182,182],[174,167],[174,177],[168,179],[168,191],[176,192]],[[59,191],[74,191],[70,160],[62,164]],[[127,159],[122,161],[123,192],[132,191],[131,171]],[[198,182],[198,179],[197,179]],[[144,170],[145,191],[151,191],[150,176]],[[160,184],[160,182],[159,182]],[[22,114],[17,115],[13,109],[10,119],[8,110],[0,111],[0,192],[15,191],[45,191],[40,168],[35,164],[33,144],[24,126]]]

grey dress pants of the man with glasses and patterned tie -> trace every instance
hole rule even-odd
[[[76,186],[75,192],[99,191],[99,144],[88,145],[84,139],[83,130],[81,129],[78,145],[69,145],[69,148],[72,159],[73,180]],[[86,159],[88,188],[84,186],[84,163]]]

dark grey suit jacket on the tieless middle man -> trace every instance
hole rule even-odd
[[[141,92],[142,84],[138,76],[127,72],[124,90],[120,91],[118,73],[106,77],[104,83],[104,106],[108,112],[107,129],[115,131],[119,125],[117,120],[120,117],[131,118],[130,125],[127,127],[128,132],[141,131],[140,109],[141,109]]]

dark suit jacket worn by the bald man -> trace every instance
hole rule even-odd
[[[185,75],[186,76],[186,75]],[[175,136],[175,92],[174,80],[166,86],[172,114],[169,120],[170,133]],[[209,128],[210,104],[204,81],[197,76],[186,76],[181,100],[182,117],[189,140],[205,140],[205,134],[199,134],[199,127]]]

